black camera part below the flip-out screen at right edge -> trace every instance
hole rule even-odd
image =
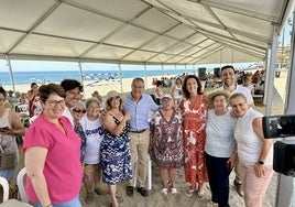
[[[276,141],[273,157],[275,172],[295,177],[295,140]]]

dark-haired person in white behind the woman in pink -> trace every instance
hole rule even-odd
[[[70,109],[77,105],[77,102],[80,100],[80,92],[83,92],[83,86],[79,81],[75,79],[64,79],[61,83],[61,86],[66,91],[66,107],[63,112],[63,116],[68,118],[73,128],[74,128],[74,117],[70,112]]]

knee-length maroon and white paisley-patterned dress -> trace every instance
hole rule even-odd
[[[154,160],[162,167],[184,165],[183,117],[179,112],[166,120],[161,110],[151,120],[153,131]]]

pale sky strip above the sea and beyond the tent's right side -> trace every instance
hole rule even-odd
[[[293,19],[293,13],[289,14],[289,18]],[[291,21],[292,22],[292,21]],[[284,36],[284,45],[291,44],[291,31],[292,26],[286,22],[285,32],[283,35],[283,31],[281,36],[278,37],[278,45],[282,46],[283,36]],[[248,67],[253,65],[254,63],[240,63],[234,64],[234,67]],[[77,70],[79,69],[78,63],[73,62],[44,62],[44,61],[11,61],[11,66],[13,72],[37,72],[37,70]],[[177,69],[197,69],[198,67],[220,67],[220,64],[215,65],[187,65],[187,66],[176,66]],[[83,63],[83,70],[119,70],[118,65],[116,64],[94,64],[94,63]],[[121,65],[122,70],[144,70],[143,65]],[[161,65],[157,66],[148,66],[146,69],[162,69]],[[175,69],[174,65],[164,66],[164,69]],[[0,72],[9,72],[9,67],[7,65],[6,59],[0,59]]]

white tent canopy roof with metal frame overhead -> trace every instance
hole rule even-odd
[[[0,58],[265,61],[294,0],[0,0]]]

